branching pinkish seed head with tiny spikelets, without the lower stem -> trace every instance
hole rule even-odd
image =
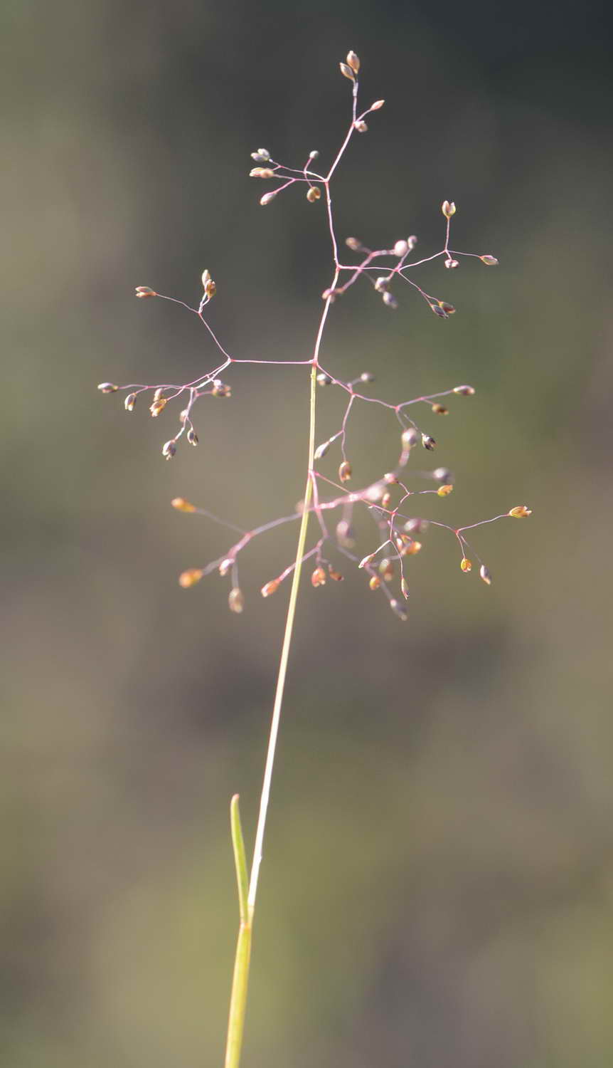
[[[215,283],[211,278],[210,272],[205,270],[201,278],[203,297],[197,308],[193,308],[182,300],[176,300],[174,297],[166,297],[162,294],[158,294],[148,286],[139,286],[136,288],[136,296],[142,299],[158,297],[162,300],[171,300],[174,303],[181,304],[194,315],[197,315],[208,331],[214,347],[222,357],[221,361],[217,362],[211,371],[207,371],[192,382],[184,382],[182,384],[164,382],[156,386],[140,383],[123,387],[114,386],[111,382],[102,382],[98,389],[100,389],[103,393],[114,393],[117,390],[124,391],[127,394],[125,398],[127,411],[133,410],[136,399],[141,394],[152,394],[149,411],[154,418],[159,417],[170,402],[180,397],[184,403],[184,407],[179,415],[179,428],[174,437],[166,441],[162,447],[163,456],[166,459],[171,459],[175,455],[178,442],[181,438],[184,437],[192,445],[197,445],[198,443],[198,437],[193,423],[193,413],[196,402],[205,396],[230,397],[230,386],[221,378],[221,376],[230,367],[242,363],[273,364],[275,366],[283,363],[295,366],[314,366],[317,371],[318,383],[321,387],[339,388],[348,395],[348,403],[339,429],[332,434],[314,450],[314,460],[319,462],[324,458],[324,456],[326,456],[334,445],[339,447],[341,459],[338,469],[339,482],[337,483],[333,481],[321,471],[316,470],[314,467],[309,471],[309,478],[312,487],[312,503],[309,503],[308,505],[303,503],[303,508],[306,506],[308,512],[313,513],[317,517],[320,536],[312,548],[309,548],[303,554],[302,559],[303,561],[312,560],[314,562],[314,569],[311,575],[311,582],[313,586],[324,585],[328,578],[338,581],[342,579],[342,575],[324,554],[324,551],[326,550],[329,552],[328,546],[336,543],[336,550],[338,552],[352,563],[356,564],[359,568],[364,568],[369,578],[370,588],[381,588],[388,598],[393,612],[396,612],[401,619],[405,619],[406,612],[403,607],[403,600],[408,597],[408,585],[405,576],[404,562],[406,556],[414,555],[421,549],[419,536],[423,535],[429,524],[433,527],[440,527],[450,531],[457,539],[457,544],[459,546],[462,554],[462,569],[466,572],[470,571],[472,568],[470,557],[474,556],[480,565],[481,578],[484,582],[489,584],[491,581],[489,570],[483,564],[479,554],[470,548],[465,536],[466,531],[484,525],[485,523],[494,522],[495,519],[501,519],[505,516],[525,517],[530,515],[530,512],[525,506],[519,506],[511,508],[511,511],[504,513],[503,516],[495,516],[493,519],[485,519],[482,522],[471,523],[468,527],[462,528],[455,528],[448,523],[440,522],[439,520],[424,519],[407,515],[406,502],[408,501],[408,498],[418,494],[436,494],[438,497],[447,497],[453,489],[452,474],[449,469],[445,467],[435,468],[428,474],[428,477],[437,484],[437,487],[434,489],[415,489],[409,488],[406,485],[406,475],[404,472],[408,465],[413,449],[416,445],[421,445],[425,450],[432,452],[436,445],[434,437],[418,425],[418,423],[412,418],[410,412],[414,411],[415,407],[425,404],[435,414],[446,415],[448,414],[448,408],[441,403],[445,397],[470,396],[474,393],[474,390],[471,386],[455,386],[451,389],[442,390],[440,393],[414,397],[410,400],[402,400],[399,404],[390,404],[386,400],[380,399],[378,397],[370,396],[365,392],[360,392],[360,387],[368,386],[374,380],[371,374],[364,373],[353,381],[346,382],[336,378],[330,372],[326,371],[325,367],[322,366],[319,352],[323,334],[323,326],[329,305],[345,294],[358,280],[365,279],[368,283],[370,283],[374,292],[381,295],[383,302],[391,309],[398,308],[398,300],[392,293],[394,282],[397,279],[402,282],[406,282],[417,290],[417,293],[423,298],[423,300],[426,301],[429,307],[437,316],[447,319],[450,315],[454,314],[455,308],[447,300],[433,297],[430,293],[426,293],[425,289],[418,285],[417,282],[409,277],[415,268],[421,267],[424,264],[433,263],[436,260],[441,260],[446,268],[454,270],[458,267],[462,257],[479,260],[486,266],[496,266],[498,264],[498,260],[493,255],[458,252],[455,249],[450,248],[451,219],[455,214],[455,204],[450,201],[443,201],[441,205],[441,211],[445,219],[445,242],[443,247],[438,252],[434,252],[429,256],[412,260],[412,253],[415,251],[417,245],[417,237],[415,235],[407,238],[400,238],[393,244],[392,248],[376,249],[374,251],[367,249],[357,238],[348,237],[345,246],[353,253],[358,254],[361,258],[354,265],[343,264],[340,262],[330,197],[332,178],[352,136],[355,132],[365,134],[368,129],[366,117],[372,112],[378,111],[385,103],[384,100],[375,100],[370,108],[367,108],[366,111],[358,114],[357,76],[359,70],[359,60],[355,52],[349,53],[346,63],[341,63],[340,68],[341,73],[352,83],[352,121],[344,141],[342,142],[327,174],[320,174],[311,169],[319,155],[317,152],[309,153],[307,161],[302,169],[286,167],[284,163],[276,162],[272,159],[270,153],[265,148],[258,148],[257,152],[252,153],[252,158],[258,166],[251,171],[251,176],[263,180],[276,180],[279,183],[276,188],[265,192],[260,198],[260,204],[270,204],[285,190],[296,185],[300,186],[301,184],[307,187],[306,197],[310,203],[314,204],[321,200],[323,191],[323,198],[327,206],[327,222],[332,241],[334,268],[330,285],[322,294],[325,307],[322,321],[320,324],[320,330],[318,332],[313,356],[308,360],[284,361],[238,359],[230,356],[222,346],[205,316],[207,305],[215,295]],[[382,262],[386,266],[382,267]],[[345,279],[345,281],[342,281],[342,279]],[[344,486],[345,483],[350,482],[353,473],[352,465],[348,459],[345,451],[346,429],[353,406],[356,402],[381,405],[393,413],[401,426],[401,452],[397,466],[392,471],[383,474],[378,481],[364,487],[362,489],[350,490]],[[423,475],[423,472],[421,472],[421,474]],[[336,490],[336,494],[332,497],[332,499],[322,499],[322,496],[320,496],[322,491],[325,490],[326,492],[329,492],[330,489]],[[226,525],[240,533],[239,539],[229,547],[227,552],[222,557],[201,567],[188,568],[179,577],[181,586],[188,587],[194,585],[204,576],[209,575],[211,571],[216,569],[219,569],[220,574],[223,576],[229,575],[231,579],[231,588],[228,597],[228,603],[229,608],[233,612],[242,612],[244,607],[244,597],[238,579],[238,559],[241,551],[245,549],[255,537],[273,530],[283,523],[289,523],[297,520],[302,513],[301,508],[293,515],[285,516],[279,519],[273,519],[271,522],[264,523],[255,530],[243,531],[232,523],[226,522],[216,516],[212,516],[211,513],[204,508],[195,507],[183,498],[176,498],[173,501],[173,506],[179,512],[189,512],[206,516],[209,519],[213,519],[215,522]],[[364,506],[369,511],[381,536],[381,541],[377,547],[361,560],[352,551],[355,547],[352,514],[356,506]],[[330,530],[330,527],[328,525],[328,517],[335,512],[340,513],[341,518],[336,522],[334,530]],[[292,574],[294,567],[295,563],[289,565],[275,578],[265,582],[261,588],[262,596],[268,597],[273,594],[278,588],[280,583]],[[400,582],[400,590],[394,592],[394,586],[391,585],[391,583],[394,583],[396,585],[394,580],[397,579]],[[399,599],[398,593],[402,596],[402,600]]]

